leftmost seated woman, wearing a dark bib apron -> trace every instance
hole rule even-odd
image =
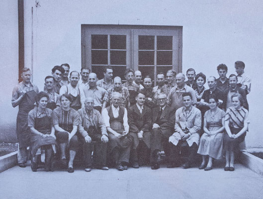
[[[52,124],[52,110],[47,108],[48,95],[40,92],[36,96],[36,104],[28,113],[28,126],[31,136],[31,169],[37,171],[37,156],[41,155],[41,148],[45,149],[45,171],[54,171],[53,149],[55,152],[56,137]],[[53,149],[52,149],[53,145]],[[36,155],[37,154],[37,155]]]

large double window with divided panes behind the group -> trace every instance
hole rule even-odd
[[[103,78],[103,67],[124,79],[126,68],[150,75],[181,72],[181,26],[82,25],[82,67]]]

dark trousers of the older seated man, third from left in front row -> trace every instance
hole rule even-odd
[[[107,165],[107,146],[108,143],[103,143],[101,141],[101,134],[89,134],[91,137],[91,143],[87,143],[83,138],[83,158],[85,162],[85,167],[91,167],[91,153],[92,146],[94,148],[93,160],[94,164],[98,167],[105,167]]]

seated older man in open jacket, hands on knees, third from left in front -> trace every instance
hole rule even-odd
[[[92,143],[95,143],[94,154],[95,164],[102,170],[108,170],[107,165],[107,142],[108,134],[102,116],[98,110],[93,108],[94,100],[87,97],[85,100],[85,108],[79,109],[80,123],[79,132],[83,139],[83,156],[85,161],[85,171],[91,171],[91,152]],[[94,158],[93,158],[94,159]]]

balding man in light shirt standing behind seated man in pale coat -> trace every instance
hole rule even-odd
[[[167,99],[168,104],[171,105],[172,111],[176,111],[183,106],[182,95],[190,93],[193,104],[197,103],[194,90],[185,84],[185,77],[182,73],[178,73],[175,78],[176,87],[172,88]]]

